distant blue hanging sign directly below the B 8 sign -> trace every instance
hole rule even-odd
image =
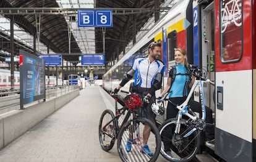
[[[82,65],[105,65],[105,54],[83,54]]]

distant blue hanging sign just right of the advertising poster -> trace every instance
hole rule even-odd
[[[38,55],[38,58],[45,60],[45,66],[61,66],[61,54],[44,54]]]

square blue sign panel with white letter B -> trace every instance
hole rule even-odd
[[[79,10],[78,11],[78,26],[79,27],[94,27],[94,11]]]

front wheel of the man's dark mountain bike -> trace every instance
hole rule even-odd
[[[131,125],[132,124],[132,125]],[[144,126],[147,125],[146,129]],[[134,131],[130,128],[134,127]],[[150,129],[148,129],[148,127]],[[134,136],[132,137],[132,133]],[[149,134],[148,141],[143,141],[143,137]],[[132,139],[131,150],[126,150],[127,139]],[[147,143],[149,150],[153,155],[148,155],[145,151]],[[143,148],[142,148],[143,147]],[[121,127],[117,137],[117,151],[122,161],[156,161],[160,154],[161,137],[155,124],[148,119],[138,117],[134,121],[128,121]],[[143,150],[144,149],[144,150]]]

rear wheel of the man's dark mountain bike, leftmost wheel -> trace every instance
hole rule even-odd
[[[105,109],[100,117],[99,139],[101,148],[105,151],[111,150],[116,140],[116,128],[113,118],[114,113],[110,109]]]

